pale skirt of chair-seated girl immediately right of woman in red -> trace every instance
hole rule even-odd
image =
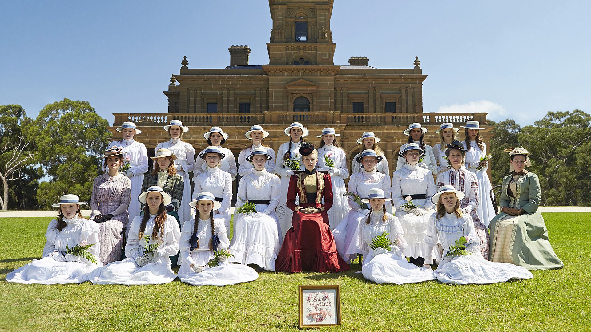
[[[362,211],[369,212],[369,210]],[[350,210],[345,219],[333,230],[336,250],[339,252],[339,256],[347,262],[355,258],[356,254],[363,253],[359,245],[359,227],[366,222],[368,216],[369,214]]]

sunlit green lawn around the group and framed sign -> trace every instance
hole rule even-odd
[[[0,330],[297,330],[298,285],[338,284],[342,326],[326,331],[591,329],[591,213],[545,213],[564,268],[492,285],[377,285],[340,274],[263,272],[227,287],[21,285],[6,274],[41,255],[51,218],[0,219]]]

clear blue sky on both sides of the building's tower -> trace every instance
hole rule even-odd
[[[489,112],[528,125],[548,111],[591,112],[588,1],[336,0],[335,64],[424,74],[424,112]],[[11,1],[2,4],[0,104],[36,116],[87,100],[112,113],[167,110],[171,74],[223,68],[230,45],[267,64],[268,1]]]

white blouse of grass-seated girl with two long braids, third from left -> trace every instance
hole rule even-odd
[[[197,239],[199,239],[199,248],[190,250],[191,244],[189,243],[191,236],[193,236],[195,219],[187,220],[183,224],[181,239],[179,241],[181,257],[183,258],[183,262],[187,261],[189,262],[189,265],[195,263],[193,261],[193,257],[191,257],[191,253],[207,252],[212,250],[209,246],[210,240],[212,239],[212,224],[210,220],[202,220],[199,217],[197,217],[197,219],[199,220],[199,224],[197,224]],[[215,233],[220,240],[220,243],[217,245],[217,248],[228,249],[228,246],[230,245],[230,240],[226,235],[226,226],[224,225],[223,219],[213,218],[213,226],[215,226]]]

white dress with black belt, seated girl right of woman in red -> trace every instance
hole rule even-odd
[[[396,207],[395,216],[398,217],[404,230],[404,237],[408,243],[407,247],[402,250],[404,256],[407,257],[426,257],[427,245],[425,245],[424,238],[427,235],[427,226],[429,224],[429,217],[435,210],[431,197],[437,192],[433,174],[426,168],[418,167],[417,165],[406,164],[392,174],[392,200]],[[425,210],[427,214],[417,216],[414,213],[407,213],[402,210],[402,206],[407,203],[405,197],[410,195],[424,195],[425,199],[413,199],[413,203]],[[432,256],[436,261],[441,258],[439,250],[434,249]]]

